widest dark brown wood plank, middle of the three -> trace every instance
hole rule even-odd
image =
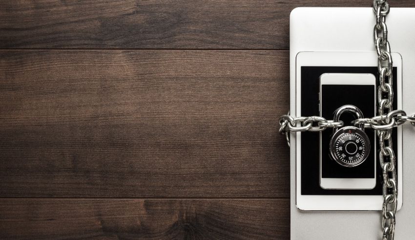
[[[289,197],[287,51],[0,51],[0,196]]]

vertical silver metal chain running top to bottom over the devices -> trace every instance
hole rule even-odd
[[[389,14],[387,0],[373,0],[376,24],[373,28],[373,41],[377,52],[379,87],[377,88],[377,124],[370,123],[379,138],[379,163],[383,175],[382,240],[393,240],[395,235],[395,215],[397,208],[396,157],[392,147],[392,128],[398,126],[394,117],[406,116],[403,110],[392,110],[394,101],[393,65],[391,45],[388,41],[386,16]],[[386,96],[386,97],[384,97]],[[386,116],[385,116],[386,114]]]

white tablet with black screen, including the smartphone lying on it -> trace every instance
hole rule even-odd
[[[398,53],[392,53],[392,56],[394,109],[402,109],[402,58]],[[331,120],[332,109],[345,103],[361,108],[365,117],[377,115],[378,80],[375,79],[377,66],[374,63],[377,63],[375,52],[299,52],[295,62],[295,116],[323,116]],[[373,153],[365,161],[366,165],[355,170],[338,168],[340,171],[326,154],[331,129],[322,133],[326,134],[323,138],[317,132],[291,133],[291,140],[295,141],[292,147],[295,148],[298,209],[381,210],[382,179],[380,171],[376,171],[379,164],[377,139],[370,131],[366,132],[371,137]],[[394,134],[394,142],[398,189],[402,189],[401,127]],[[353,147],[350,146],[349,151],[354,151]],[[398,209],[401,206],[402,191],[399,191]]]

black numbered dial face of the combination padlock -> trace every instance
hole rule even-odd
[[[335,154],[340,161],[353,164],[362,160],[366,146],[362,137],[356,133],[346,133],[335,142]]]

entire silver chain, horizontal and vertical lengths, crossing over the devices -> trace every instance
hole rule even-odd
[[[373,11],[376,24],[373,29],[373,41],[378,56],[379,87],[377,89],[378,116],[360,118],[353,121],[355,126],[364,125],[377,132],[379,138],[379,163],[383,175],[382,205],[382,240],[393,240],[395,230],[395,214],[397,208],[396,157],[392,146],[393,128],[404,123],[415,126],[415,114],[407,116],[403,110],[393,110],[393,59],[388,41],[386,16],[389,14],[387,0],[373,0]],[[290,113],[289,113],[290,114]],[[279,132],[285,134],[290,146],[289,132],[324,131],[327,128],[339,128],[342,121],[334,122],[319,116],[292,117],[283,115],[279,119]]]

